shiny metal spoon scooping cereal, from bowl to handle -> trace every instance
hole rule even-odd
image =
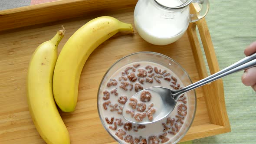
[[[158,99],[160,99],[160,102],[159,101],[158,103],[154,102],[154,107],[159,108],[162,106],[162,108],[158,109],[158,114],[155,113],[157,115],[153,115],[154,119],[151,121],[150,120],[136,121],[135,118],[131,118],[131,116],[126,114],[126,109],[129,107],[128,103],[130,102],[130,99],[125,103],[122,114],[127,121],[130,121],[131,123],[134,123],[134,124],[150,124],[156,121],[160,121],[161,119],[167,117],[167,115],[169,115],[171,111],[173,111],[175,105],[177,104],[177,100],[180,98],[182,94],[189,92],[191,90],[194,90],[195,88],[198,88],[200,86],[206,85],[207,83],[213,82],[217,79],[220,79],[226,75],[230,75],[234,72],[239,72],[244,69],[249,69],[254,66],[256,66],[256,53],[254,53],[251,56],[247,56],[244,59],[241,59],[240,61],[234,63],[233,65],[230,65],[229,67],[226,67],[225,69],[219,72],[216,72],[215,74],[210,75],[198,82],[188,85],[182,89],[173,90],[169,88],[155,86],[155,87],[146,88],[136,93],[135,95],[132,96],[132,98],[136,98],[138,100],[140,99],[141,92],[143,91],[153,92],[154,94],[156,94],[154,95],[154,97],[159,97]],[[148,118],[144,118],[144,119],[148,119]]]

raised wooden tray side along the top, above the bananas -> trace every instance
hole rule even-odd
[[[134,8],[138,0],[58,0],[0,11],[0,31]]]

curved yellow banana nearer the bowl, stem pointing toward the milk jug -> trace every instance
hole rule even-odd
[[[79,28],[63,46],[53,75],[53,95],[62,111],[74,111],[82,68],[92,51],[120,31],[133,31],[133,27],[101,16]]]

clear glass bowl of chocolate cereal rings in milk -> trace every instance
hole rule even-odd
[[[123,106],[144,88],[163,86],[180,89],[191,83],[180,64],[160,53],[137,52],[125,56],[108,69],[99,85],[97,107],[101,122],[108,134],[120,144],[175,144],[184,137],[194,120],[195,91],[181,96],[170,115],[151,124],[129,123],[122,116]],[[154,95],[151,97],[154,99]],[[153,109],[161,111],[161,108],[154,108],[156,102],[149,99],[141,107],[134,101],[126,113],[136,121],[154,117]],[[136,109],[141,113],[135,113]]]

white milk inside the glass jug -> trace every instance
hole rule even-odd
[[[183,4],[180,0],[157,1],[167,7]],[[135,28],[144,40],[155,45],[167,45],[183,36],[189,23],[189,8],[175,11],[160,10],[153,0],[146,3],[143,7],[142,4],[137,4],[138,7],[135,9],[142,10],[134,15]]]

